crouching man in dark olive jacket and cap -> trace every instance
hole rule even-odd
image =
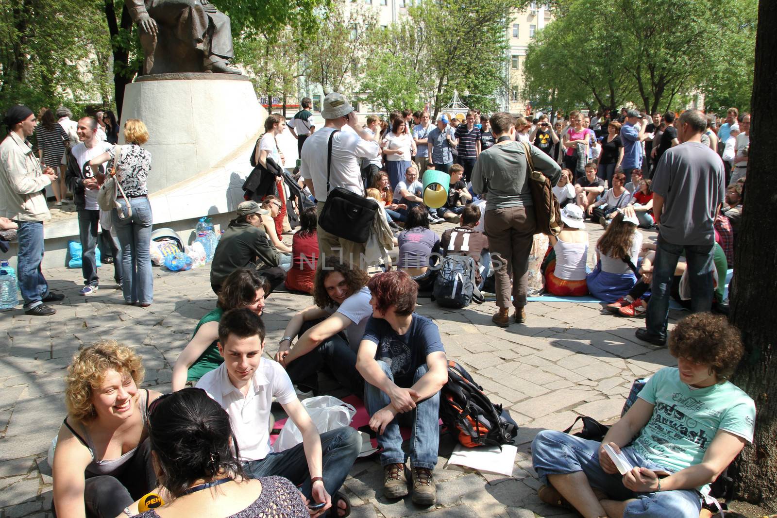
[[[277,268],[280,252],[264,232],[261,216],[270,214],[255,201],[244,201],[238,205],[237,217],[221,235],[211,262],[211,288],[215,294],[221,291],[221,284],[238,268],[256,268],[270,280],[272,289],[285,279],[285,273]]]

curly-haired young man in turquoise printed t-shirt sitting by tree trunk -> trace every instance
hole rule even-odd
[[[678,367],[650,377],[601,443],[537,434],[532,463],[547,484],[540,499],[568,502],[583,516],[699,516],[709,484],[753,440],[754,402],[726,381],[743,351],[723,316],[695,313],[678,322],[669,338]],[[605,445],[633,468],[620,476]]]

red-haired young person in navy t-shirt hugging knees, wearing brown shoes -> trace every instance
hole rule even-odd
[[[440,443],[440,389],[448,381],[437,325],[416,315],[416,282],[404,272],[387,272],[368,283],[372,318],[359,346],[356,368],[364,376],[364,403],[370,427],[383,448],[384,495],[407,495],[405,459],[399,422],[413,429],[413,502],[431,506],[437,500],[432,472]]]

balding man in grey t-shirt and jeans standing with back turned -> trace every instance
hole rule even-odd
[[[636,336],[657,345],[667,341],[672,276],[684,252],[692,311],[709,311],[713,305],[713,221],[723,202],[726,176],[723,161],[702,144],[706,127],[706,116],[699,110],[680,116],[681,144],[661,156],[650,185],[653,214],[660,227],[646,329],[637,329]]]

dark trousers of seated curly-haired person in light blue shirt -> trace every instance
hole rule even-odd
[[[299,335],[317,325],[322,320],[305,322]],[[318,373],[323,366],[329,367],[338,383],[353,394],[364,394],[364,378],[356,370],[356,353],[340,333],[330,336],[319,343],[315,349],[289,363],[286,374],[294,384],[304,384],[318,393]]]

